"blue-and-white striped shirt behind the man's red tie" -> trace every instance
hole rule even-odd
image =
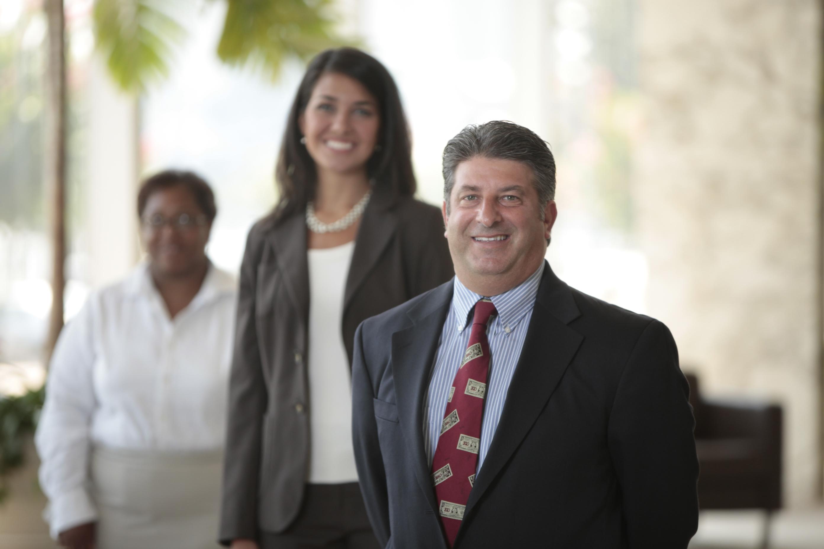
[[[476,472],[480,471],[480,466],[484,463],[489,444],[492,443],[495,429],[501,419],[509,383],[513,379],[515,366],[527,337],[527,328],[532,318],[532,308],[535,305],[544,265],[545,263],[541,262],[541,267],[531,277],[512,290],[489,298],[495,305],[498,316],[489,322],[487,328],[491,360]],[[452,387],[452,381],[469,343],[471,312],[475,303],[484,297],[467,289],[455,277],[452,306],[449,308],[446,322],[443,323],[432,379],[429,380],[429,388],[424,397],[424,448],[430,467],[435,449],[438,447],[438,436],[441,432],[443,414],[447,409],[449,388]]]

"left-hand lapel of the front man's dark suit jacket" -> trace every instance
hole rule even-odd
[[[400,428],[414,458],[414,475],[436,514],[438,504],[424,452],[423,402],[441,330],[451,304],[452,281],[449,281],[438,286],[418,307],[410,310],[408,314],[413,322],[410,328],[392,334],[391,364]]]

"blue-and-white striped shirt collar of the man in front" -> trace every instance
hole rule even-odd
[[[466,328],[466,325],[471,322],[469,318],[470,311],[475,307],[475,303],[484,297],[489,297],[492,304],[495,305],[495,310],[498,311],[499,329],[505,329],[508,333],[509,330],[515,328],[517,323],[535,305],[535,296],[538,294],[538,286],[541,284],[541,275],[544,273],[545,264],[546,262],[542,261],[536,272],[533,272],[527,280],[522,281],[511,290],[491,297],[476,294],[464,286],[458,280],[458,277],[455,277],[455,286],[452,291],[452,309],[455,311],[458,328]]]

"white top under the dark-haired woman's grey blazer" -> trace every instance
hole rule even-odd
[[[309,249],[308,482],[358,482],[352,445],[352,375],[341,323],[354,243]]]

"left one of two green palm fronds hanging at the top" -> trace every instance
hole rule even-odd
[[[97,48],[124,91],[145,91],[166,77],[172,49],[185,30],[163,0],[96,0],[93,13]]]

